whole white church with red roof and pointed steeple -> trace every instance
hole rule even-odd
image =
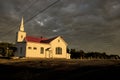
[[[70,59],[67,46],[68,44],[61,36],[50,39],[27,36],[22,18],[19,31],[16,34],[16,57]]]

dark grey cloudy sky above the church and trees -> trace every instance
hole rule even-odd
[[[120,0],[0,0],[0,41],[15,42],[22,16],[27,35],[120,55]]]

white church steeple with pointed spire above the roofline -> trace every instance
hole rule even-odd
[[[16,42],[23,42],[26,37],[26,32],[24,31],[24,19],[22,17],[19,31],[17,32]]]

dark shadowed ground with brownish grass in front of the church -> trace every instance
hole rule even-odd
[[[120,60],[0,59],[0,80],[116,80]]]

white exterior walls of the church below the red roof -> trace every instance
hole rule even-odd
[[[16,43],[18,57],[29,58],[66,58],[70,55],[67,53],[67,44],[61,38],[57,37],[50,44],[35,43],[35,42],[21,42]],[[41,47],[44,48],[44,53],[41,53]],[[62,54],[56,54],[56,48],[62,48]],[[22,50],[21,50],[22,49]]]

